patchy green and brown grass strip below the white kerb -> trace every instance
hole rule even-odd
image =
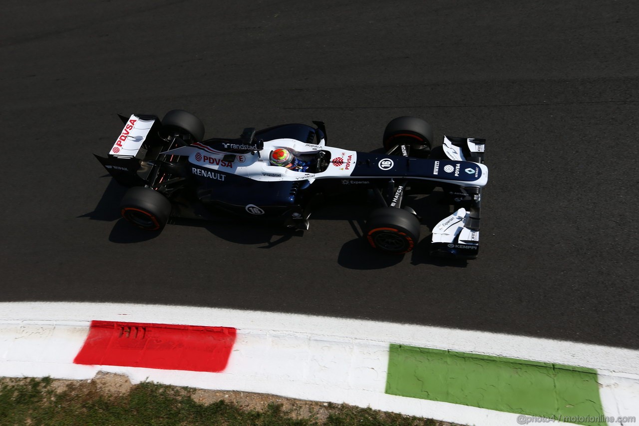
[[[443,423],[373,409],[328,404],[319,418],[309,413],[298,418],[282,404],[269,403],[261,411],[217,400],[196,402],[195,390],[156,383],[140,383],[126,393],[109,394],[91,382],[70,383],[21,379],[0,383],[0,425],[46,426],[436,426]]]

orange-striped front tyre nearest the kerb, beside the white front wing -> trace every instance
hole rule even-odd
[[[419,241],[419,230],[419,219],[414,214],[395,207],[383,207],[371,212],[366,224],[366,239],[374,249],[401,255],[415,247]]]

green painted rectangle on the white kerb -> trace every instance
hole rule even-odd
[[[390,345],[386,393],[557,420],[603,416],[591,368],[406,345]]]

